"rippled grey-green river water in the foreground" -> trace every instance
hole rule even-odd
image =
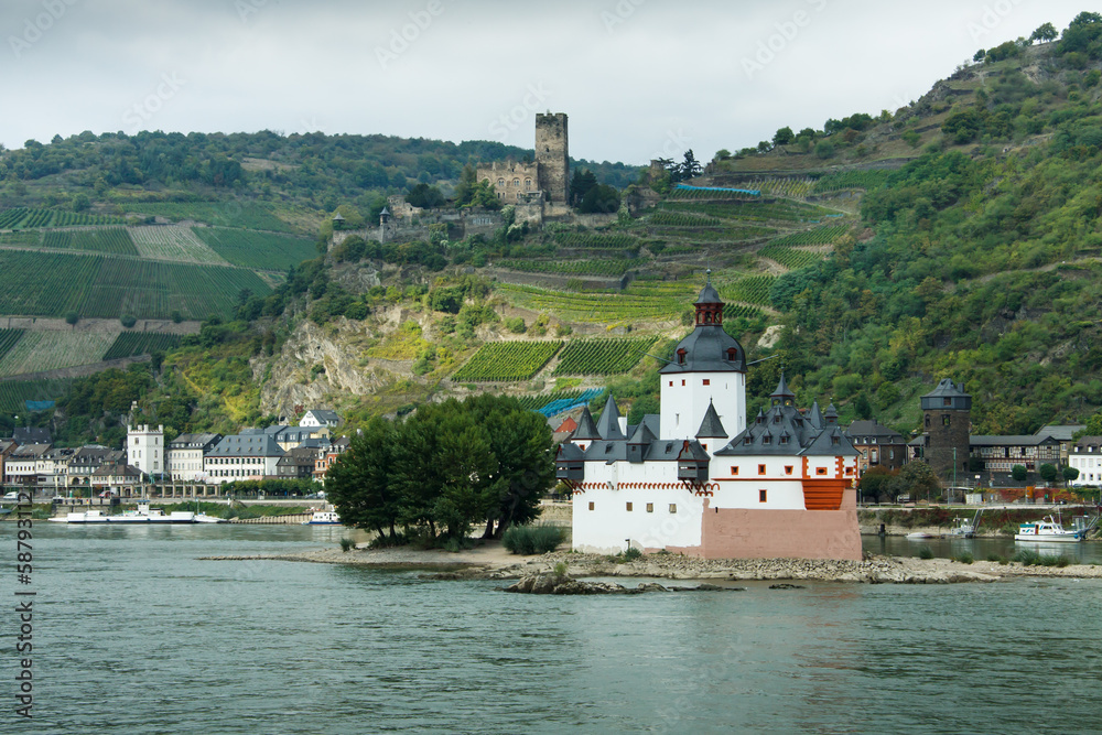
[[[0,525],[3,733],[1098,728],[1102,581],[549,597],[197,559],[335,547],[342,529],[44,522],[20,587],[36,592],[25,721],[14,530]]]

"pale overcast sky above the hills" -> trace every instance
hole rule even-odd
[[[2,0],[0,143],[142,129],[387,133],[707,160],[896,109],[1082,0]]]

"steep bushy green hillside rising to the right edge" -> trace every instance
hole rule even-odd
[[[869,187],[855,241],[773,290],[789,369],[813,393],[878,413],[951,377],[974,397],[976,433],[1098,411],[1100,58],[1102,17],[1083,13],[1059,40],[980,51],[895,114],[830,121],[830,136],[782,129],[780,142],[713,165],[737,175],[801,158],[910,159]]]

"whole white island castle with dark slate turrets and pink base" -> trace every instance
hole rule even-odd
[[[746,355],[723,331],[711,283],[695,307],[695,328],[659,371],[660,414],[627,426],[609,398],[561,445],[574,548],[861,559],[857,452],[836,411],[804,415],[781,377],[769,411],[747,424]]]

